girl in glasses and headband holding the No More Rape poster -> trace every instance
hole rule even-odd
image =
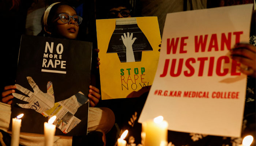
[[[79,32],[79,24],[81,24],[81,22],[82,18],[77,16],[73,7],[63,3],[54,3],[44,12],[41,21],[42,31],[38,35],[76,39]],[[12,99],[14,98],[12,93],[15,92],[15,88],[15,85],[6,86],[4,88],[1,100],[3,103],[12,104]],[[109,108],[95,108],[101,95],[99,94],[98,88],[92,85],[90,85],[89,88],[90,93],[88,94],[88,97],[90,99],[91,107],[89,108],[88,132],[101,131],[103,134],[102,139],[104,141],[105,133],[114,125],[114,114]],[[7,119],[6,122],[9,122],[9,120],[10,119]],[[76,137],[75,139],[77,140],[78,138]]]

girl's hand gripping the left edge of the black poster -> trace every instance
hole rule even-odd
[[[16,86],[15,85],[9,85],[4,87],[4,92],[2,93],[2,100],[1,102],[6,103],[6,104],[12,104],[12,99],[14,96],[12,93],[15,92]]]

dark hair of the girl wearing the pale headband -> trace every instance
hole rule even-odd
[[[75,11],[76,11],[76,9],[73,7],[73,6],[71,6],[71,5],[69,5],[69,4],[67,4],[67,3],[57,3],[57,4],[55,4],[55,5],[53,5],[53,7],[50,9],[50,12],[49,12],[49,15],[48,15],[48,17],[47,17],[47,25],[48,26],[52,26],[52,20],[54,19],[53,17],[56,15],[56,12],[57,12],[57,9],[61,6],[61,5],[68,5],[69,7],[72,7]],[[46,31],[45,31],[45,29],[44,29],[44,27],[45,27],[45,25],[44,25],[44,14],[42,15],[42,17],[41,17],[41,26],[42,26],[42,30],[41,30],[41,32],[38,34],[38,36],[45,36],[45,37],[49,37],[50,36],[50,34],[48,34]]]

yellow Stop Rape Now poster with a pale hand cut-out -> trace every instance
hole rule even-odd
[[[101,19],[96,27],[102,100],[149,91],[160,54],[157,17]]]

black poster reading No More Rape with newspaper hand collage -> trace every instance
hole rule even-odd
[[[43,134],[59,113],[56,135],[87,133],[91,50],[91,42],[22,35],[11,109],[11,119],[24,114],[20,132]]]

